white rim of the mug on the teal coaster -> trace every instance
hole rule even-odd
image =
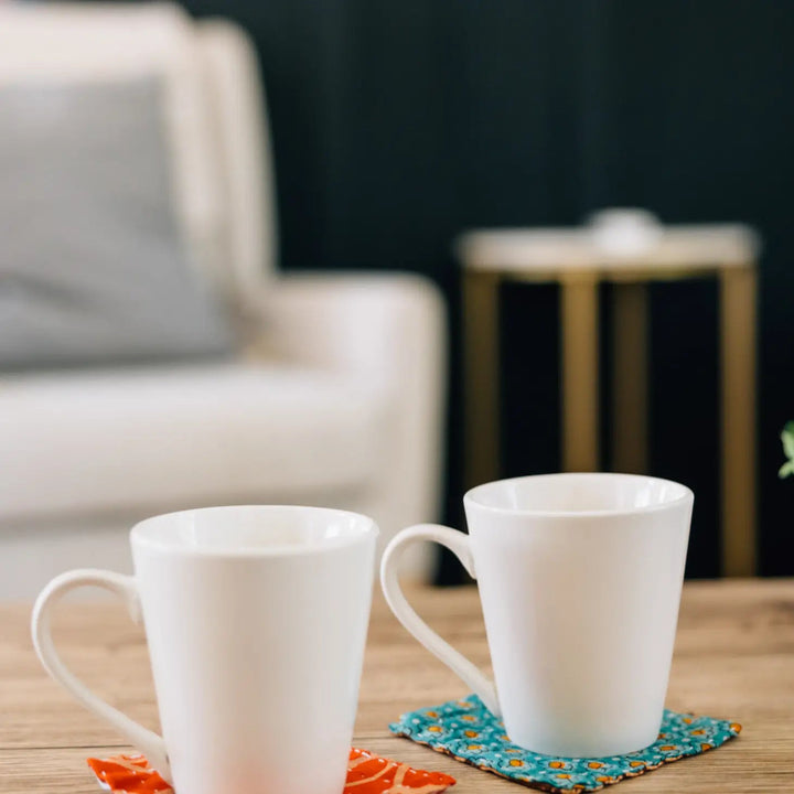
[[[582,509],[582,511],[564,511],[564,509],[535,509],[529,507],[501,507],[492,504],[485,504],[478,501],[478,492],[492,489],[494,485],[503,485],[504,483],[522,482],[527,480],[562,480],[569,478],[584,478],[592,480],[634,480],[654,483],[664,483],[667,485],[675,485],[680,489],[680,495],[670,498],[666,502],[659,502],[657,504],[642,505],[639,507],[615,507],[609,509]],[[665,478],[655,478],[647,474],[623,474],[621,472],[554,472],[549,474],[526,474],[516,478],[505,478],[503,480],[492,480],[491,482],[482,483],[469,489],[463,495],[464,507],[475,507],[482,511],[489,511],[491,513],[497,513],[502,515],[512,516],[533,516],[538,518],[588,518],[588,517],[604,517],[604,516],[627,516],[639,515],[643,513],[657,513],[659,511],[669,509],[676,505],[690,504],[695,501],[695,494],[691,489],[687,487],[683,483],[676,482],[675,480],[667,480]]]

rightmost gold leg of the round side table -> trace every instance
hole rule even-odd
[[[755,573],[755,270],[720,276],[722,573]]]

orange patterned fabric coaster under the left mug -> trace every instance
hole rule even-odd
[[[88,759],[99,785],[114,794],[158,794],[171,786],[149,766],[143,755],[114,755]],[[368,750],[353,748],[347,763],[344,794],[438,794],[454,785],[454,777],[442,772],[415,770],[399,761],[380,758]]]

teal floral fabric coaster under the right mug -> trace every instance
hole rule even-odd
[[[665,709],[658,739],[627,755],[566,759],[512,744],[476,695],[409,711],[389,726],[393,733],[427,744],[481,770],[541,791],[592,792],[689,755],[725,744],[741,731],[737,722]]]

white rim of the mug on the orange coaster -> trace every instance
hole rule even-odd
[[[297,544],[273,544],[272,546],[221,546],[221,547],[198,547],[190,546],[184,543],[165,540],[161,536],[152,534],[152,529],[164,522],[170,522],[178,516],[189,514],[207,514],[207,513],[225,513],[239,509],[261,509],[261,511],[287,511],[294,513],[314,513],[315,515],[324,513],[336,517],[354,518],[361,522],[361,529],[346,535],[322,538],[319,543],[300,546]],[[304,557],[310,555],[326,554],[332,549],[345,548],[364,543],[369,538],[376,538],[379,534],[378,526],[374,518],[355,513],[353,511],[336,509],[335,507],[315,507],[312,505],[287,505],[287,504],[239,504],[239,505],[217,505],[213,507],[193,507],[182,511],[172,511],[171,513],[161,513],[159,515],[144,518],[132,526],[130,529],[130,544],[135,547],[154,551],[157,554],[171,554],[180,557],[235,557],[235,558],[266,558],[266,557]]]

